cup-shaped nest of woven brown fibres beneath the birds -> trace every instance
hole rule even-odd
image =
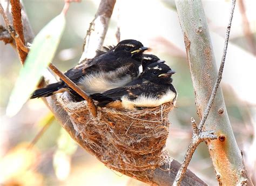
[[[86,149],[107,167],[121,172],[143,171],[168,161],[165,142],[172,103],[140,111],[98,107],[98,115],[93,118],[86,101],[73,102],[69,94],[64,93],[58,102],[69,114]]]

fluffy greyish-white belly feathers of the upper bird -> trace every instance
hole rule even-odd
[[[108,89],[124,86],[132,80],[137,79],[142,71],[142,65],[140,65],[138,76],[132,77],[126,73],[128,68],[127,66],[123,66],[114,71],[87,74],[78,82],[78,86],[87,94],[102,93]]]

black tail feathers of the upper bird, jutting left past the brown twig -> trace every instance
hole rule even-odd
[[[54,84],[50,84],[45,88],[37,89],[35,92],[33,92],[30,99],[48,97],[53,93],[55,93],[56,91],[59,91],[60,88],[64,88],[64,87],[65,87],[64,82],[56,82]]]

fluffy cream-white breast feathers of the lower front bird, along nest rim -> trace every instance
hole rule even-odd
[[[151,95],[146,96],[145,94],[139,95],[137,99],[130,100],[127,95],[121,98],[122,107],[129,110],[135,110],[136,107],[156,107],[166,102],[176,102],[177,94],[171,90],[167,91],[164,95],[159,97]]]

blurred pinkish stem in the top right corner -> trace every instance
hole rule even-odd
[[[242,28],[244,30],[249,49],[254,54],[254,56],[256,56],[256,43],[255,43],[255,39],[253,37],[252,30],[250,28],[250,23],[246,16],[244,0],[239,0],[238,4],[239,4],[239,9],[240,9],[240,12],[242,15],[242,24],[244,25],[244,26],[242,26]]]

